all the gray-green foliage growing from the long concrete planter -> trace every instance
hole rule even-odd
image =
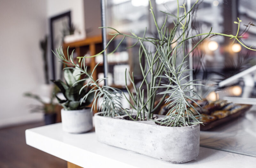
[[[194,8],[195,4],[189,11],[187,11],[186,5],[183,4],[182,6],[179,6],[179,1],[177,0],[177,14],[173,15],[171,13],[164,12],[166,14],[166,18],[164,20],[163,25],[160,26],[157,24],[156,17],[153,12],[153,8],[151,6],[150,1],[149,4],[150,12],[156,25],[157,37],[147,37],[147,29],[145,29],[144,35],[142,37],[139,37],[134,33],[132,33],[132,35],[126,35],[120,33],[114,28],[110,28],[116,31],[116,33],[110,34],[113,35],[113,37],[110,39],[106,47],[107,49],[109,44],[116,38],[116,36],[123,36],[123,38],[111,53],[117,50],[117,48],[124,41],[125,38],[133,38],[137,40],[137,42],[133,44],[131,47],[137,44],[140,45],[138,59],[140,62],[140,70],[142,72],[143,80],[140,86],[136,87],[134,83],[133,73],[128,73],[128,77],[133,86],[134,91],[132,92],[129,90],[126,81],[127,92],[129,93],[131,99],[128,99],[125,96],[125,94],[123,94],[123,96],[129,102],[132,108],[131,110],[122,108],[120,103],[121,95],[119,95],[119,90],[109,86],[100,87],[97,84],[97,82],[104,79],[98,79],[97,81],[94,81],[92,76],[90,76],[90,74],[87,73],[87,67],[85,66],[85,58],[89,57],[83,57],[82,64],[84,64],[84,68],[81,68],[77,67],[73,63],[72,55],[69,56],[68,59],[66,59],[63,52],[61,50],[57,50],[57,56],[61,60],[65,60],[71,63],[72,65],[76,66],[82,73],[86,74],[90,78],[88,86],[93,86],[93,89],[96,90],[90,90],[90,92],[94,92],[94,97],[96,98],[94,100],[94,106],[97,99],[99,97],[103,97],[103,101],[100,105],[103,106],[103,108],[101,108],[102,111],[106,110],[104,112],[104,115],[106,116],[121,115],[125,112],[130,116],[132,120],[153,119],[154,112],[156,112],[156,110],[165,101],[166,103],[169,103],[169,112],[162,121],[157,121],[158,123],[167,126],[188,126],[192,124],[199,124],[200,121],[197,119],[197,115],[199,114],[192,113],[191,109],[196,109],[193,107],[191,102],[196,103],[195,100],[200,100],[201,98],[195,92],[193,92],[193,87],[190,87],[196,84],[194,84],[194,80],[189,81],[189,75],[187,73],[192,69],[188,69],[186,59],[188,58],[189,54],[198,46],[198,44],[200,44],[205,38],[207,38],[211,34],[228,36],[230,38],[234,38],[238,43],[241,43],[241,41],[239,41],[239,38],[241,38],[241,36],[238,36],[238,31],[236,36],[234,36],[221,33],[211,33],[210,30],[209,33],[196,35],[204,37],[197,44],[192,46],[191,50],[188,51],[186,49],[186,42],[189,39],[196,37],[188,36],[188,30],[190,29],[190,12]],[[180,12],[180,10],[182,10],[182,13]],[[168,17],[174,17],[175,19],[175,21],[173,21],[173,28],[170,28],[167,24]],[[238,30],[239,23],[240,20],[238,22]],[[147,48],[146,43],[153,44],[154,52]],[[244,44],[242,45],[245,46]],[[249,47],[246,48],[254,50]],[[142,64],[142,59],[145,59],[145,65]],[[148,76],[150,80],[147,80]],[[167,80],[163,80],[164,78]],[[126,80],[126,73],[124,79]],[[165,81],[165,83],[163,83],[163,81]],[[164,89],[164,91],[159,92],[159,88]],[[157,94],[162,95],[162,98],[158,102],[158,104],[155,105]],[[132,117],[134,114],[136,117]]]

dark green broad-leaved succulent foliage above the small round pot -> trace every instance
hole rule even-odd
[[[73,72],[72,72],[73,71]],[[80,80],[81,72],[78,69],[65,68],[64,79],[66,83],[61,80],[52,80],[52,82],[60,89],[66,100],[61,100],[56,94],[55,97],[65,108],[65,110],[80,110],[88,106],[94,94],[90,94],[83,99],[89,91],[88,87],[84,86],[84,80]]]

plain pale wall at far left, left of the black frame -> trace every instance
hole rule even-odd
[[[24,98],[44,83],[42,52],[39,40],[47,26],[46,1],[0,0],[0,127],[42,119],[31,114]]]

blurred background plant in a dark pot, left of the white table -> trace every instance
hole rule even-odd
[[[33,105],[31,112],[44,112],[44,123],[45,125],[54,124],[56,123],[56,104],[53,102],[53,94],[50,98],[50,102],[44,101],[39,95],[32,94],[29,92],[24,93],[24,96],[33,98],[42,105]]]

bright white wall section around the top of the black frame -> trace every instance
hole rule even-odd
[[[83,0],[47,0],[48,18],[68,11],[71,11],[71,22],[81,31],[81,33],[84,33],[85,26]]]

